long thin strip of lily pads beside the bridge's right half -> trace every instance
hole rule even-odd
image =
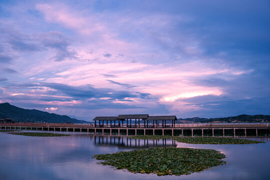
[[[264,143],[257,140],[240,139],[232,137],[179,137],[170,135],[135,135],[129,136],[129,138],[137,139],[174,139],[178,142],[192,143],[192,144],[252,144],[252,143]]]

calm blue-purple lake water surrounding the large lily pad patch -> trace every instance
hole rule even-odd
[[[268,138],[258,138],[267,142],[260,144],[211,145],[62,133],[71,136],[31,137],[0,132],[0,179],[270,179]],[[226,155],[227,164],[189,175],[157,176],[116,170],[92,158],[93,154],[162,146],[216,149]]]

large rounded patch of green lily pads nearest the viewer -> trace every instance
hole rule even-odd
[[[157,175],[190,174],[225,163],[221,160],[225,155],[213,149],[175,147],[96,154],[93,157],[104,160],[101,164],[112,165],[117,169]]]

